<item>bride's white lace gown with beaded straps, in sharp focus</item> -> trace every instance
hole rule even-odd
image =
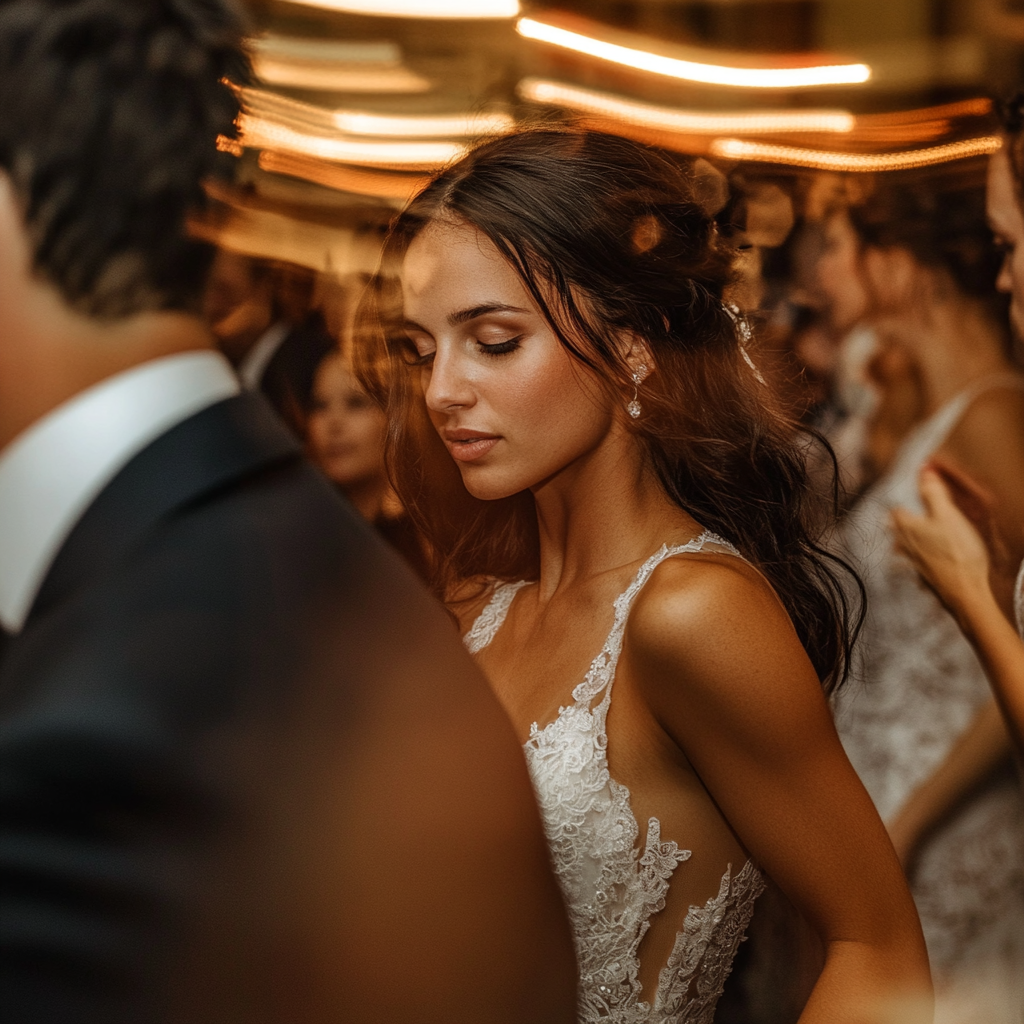
[[[651,573],[667,558],[715,544],[738,557],[732,545],[703,534],[665,546],[640,567],[614,602],[608,639],[594,658],[572,702],[545,728],[530,727],[526,762],[537,791],[555,872],[568,908],[580,967],[581,1024],[711,1024],[764,889],[750,861],[735,877],[731,865],[719,893],[691,906],[658,979],[653,998],[642,998],[637,978],[640,941],[650,918],[665,907],[676,868],[690,857],[662,838],[657,818],[647,822],[643,849],[630,792],[608,772],[607,717],[615,667],[630,608]],[[526,581],[499,584],[465,636],[470,653],[494,639],[512,600]]]

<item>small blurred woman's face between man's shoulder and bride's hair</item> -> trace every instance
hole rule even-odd
[[[339,486],[383,479],[387,420],[341,355],[316,371],[307,429],[310,457]]]

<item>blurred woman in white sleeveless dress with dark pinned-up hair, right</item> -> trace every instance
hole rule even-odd
[[[1024,804],[1009,738],[970,644],[888,535],[892,510],[920,511],[919,474],[938,458],[992,496],[1013,557],[1024,556],[1024,381],[992,285],[998,255],[969,170],[884,178],[850,225],[895,436],[842,530],[868,613],[840,732],[909,870],[938,1020],[1017,1021]]]

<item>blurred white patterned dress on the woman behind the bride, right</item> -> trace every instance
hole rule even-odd
[[[988,378],[920,424],[841,528],[840,548],[867,589],[852,678],[836,703],[846,752],[890,820],[991,699],[956,623],[893,550],[890,510],[922,511],[918,474]],[[936,1021],[1021,1024],[1024,1004],[1024,799],[996,773],[922,845],[910,888],[936,982]]]

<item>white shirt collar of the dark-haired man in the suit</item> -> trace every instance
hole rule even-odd
[[[217,352],[165,356],[75,395],[0,452],[0,625],[20,631],[68,535],[135,455],[239,390]]]

